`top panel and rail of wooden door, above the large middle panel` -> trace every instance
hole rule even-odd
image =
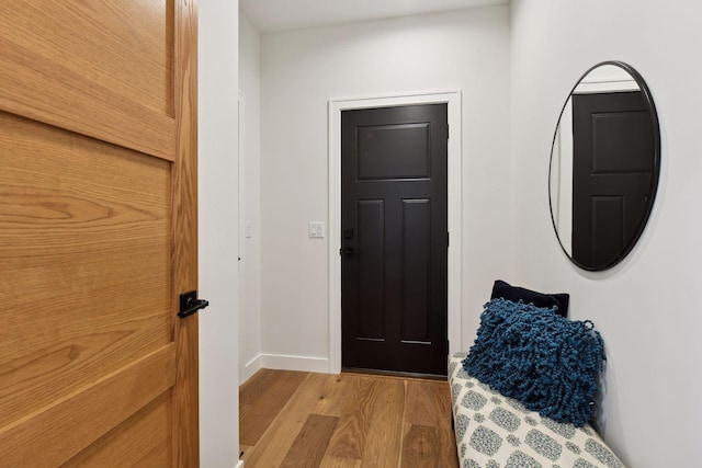
[[[66,3],[0,10],[0,107],[173,160],[171,2]]]

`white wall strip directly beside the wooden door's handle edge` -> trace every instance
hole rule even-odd
[[[200,2],[200,460],[239,459],[237,320],[238,1]]]

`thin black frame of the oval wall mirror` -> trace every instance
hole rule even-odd
[[[624,247],[624,249],[622,250],[622,253],[614,259],[611,263],[604,265],[604,266],[588,266],[588,265],[582,265],[580,263],[578,263],[577,261],[575,261],[575,259],[573,258],[573,254],[568,253],[566,251],[566,249],[563,247],[563,242],[561,241],[561,237],[558,236],[558,229],[556,227],[556,221],[554,219],[554,214],[553,214],[553,198],[552,198],[552,193],[551,193],[551,171],[553,169],[553,152],[554,152],[554,148],[555,148],[555,144],[556,144],[556,138],[558,135],[558,127],[561,126],[561,118],[563,117],[563,113],[568,104],[568,101],[570,100],[570,96],[573,95],[573,93],[575,92],[576,88],[582,82],[582,80],[585,79],[585,77],[587,77],[592,70],[595,70],[596,68],[605,66],[605,65],[612,65],[615,67],[619,67],[621,69],[623,69],[624,71],[626,71],[633,79],[634,81],[636,81],[636,84],[638,84],[638,88],[641,89],[641,92],[644,96],[644,100],[646,101],[646,104],[648,105],[648,107],[650,109],[650,119],[652,119],[652,125],[654,126],[654,133],[653,133],[653,137],[654,137],[654,162],[653,162],[653,171],[652,171],[652,180],[650,180],[650,197],[648,198],[648,202],[646,203],[645,209],[644,209],[644,214],[641,217],[641,220],[638,222],[638,226],[636,227],[636,230],[634,231],[634,235],[632,236],[632,240],[631,242]],[[578,81],[575,83],[575,85],[573,87],[573,89],[570,90],[570,93],[568,94],[568,98],[566,99],[565,103],[563,104],[563,107],[561,109],[561,113],[558,114],[558,121],[556,123],[556,129],[554,130],[554,136],[553,136],[553,140],[551,144],[551,157],[548,158],[548,209],[551,213],[551,224],[553,225],[553,230],[556,233],[556,239],[558,240],[558,244],[561,246],[561,250],[563,250],[563,252],[565,253],[565,255],[568,258],[568,260],[570,260],[570,262],[573,262],[576,266],[578,266],[579,269],[586,270],[586,271],[590,271],[590,272],[603,272],[605,270],[609,270],[611,267],[613,267],[614,265],[616,265],[618,263],[620,263],[622,260],[624,260],[626,258],[626,255],[629,255],[631,253],[631,251],[634,249],[634,246],[636,246],[636,243],[638,242],[638,239],[641,238],[641,236],[644,232],[644,229],[646,228],[646,225],[648,224],[648,218],[650,217],[650,213],[653,212],[653,207],[654,207],[654,202],[656,199],[656,193],[658,192],[658,180],[660,178],[660,125],[658,122],[658,113],[656,112],[656,105],[654,104],[654,100],[653,100],[653,95],[650,94],[650,90],[648,89],[648,85],[646,84],[646,82],[644,81],[644,79],[642,78],[642,76],[638,73],[638,71],[636,71],[632,66],[630,66],[629,64],[625,64],[623,61],[618,61],[618,60],[607,60],[607,61],[601,61],[592,67],[590,67],[585,73],[582,73],[582,76],[578,79]]]

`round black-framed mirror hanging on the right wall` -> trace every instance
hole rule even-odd
[[[602,271],[626,256],[646,226],[659,171],[646,83],[626,64],[596,65],[570,91],[551,150],[551,218],[576,265]]]

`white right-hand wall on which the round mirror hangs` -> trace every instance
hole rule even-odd
[[[702,7],[697,2],[514,0],[511,146],[516,276],[571,294],[608,350],[603,435],[627,466],[699,466],[702,426]],[[592,65],[636,68],[658,110],[663,168],[654,212],[631,255],[587,273],[552,229],[548,155],[558,113]]]

